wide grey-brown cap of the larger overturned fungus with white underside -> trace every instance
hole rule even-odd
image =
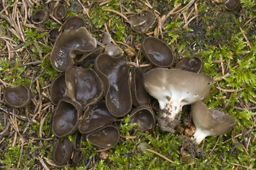
[[[164,109],[170,97],[180,106],[204,101],[210,95],[213,78],[204,73],[193,73],[180,69],[155,68],[144,74],[143,85],[155,97],[160,109]]]

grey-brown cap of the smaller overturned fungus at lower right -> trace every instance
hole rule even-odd
[[[197,128],[208,131],[212,136],[227,133],[236,123],[228,113],[210,109],[202,101],[197,101],[191,107],[193,122]]]

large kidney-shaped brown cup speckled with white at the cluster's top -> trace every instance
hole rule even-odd
[[[96,39],[85,27],[70,28],[58,36],[51,53],[51,64],[59,72],[74,65],[74,53],[84,54],[96,48]]]

